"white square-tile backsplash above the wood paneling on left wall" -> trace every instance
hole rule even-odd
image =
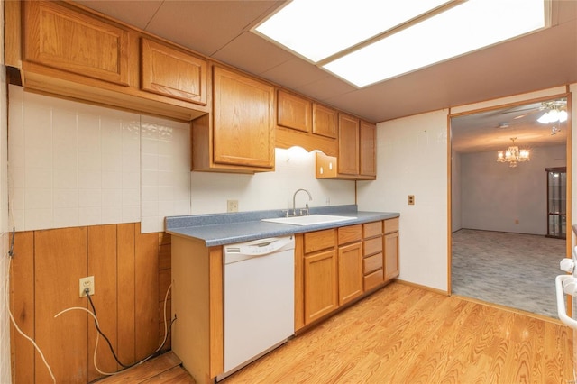
[[[9,127],[17,231],[132,223],[145,215],[142,232],[158,232],[160,215],[190,213],[188,123],[11,86]]]

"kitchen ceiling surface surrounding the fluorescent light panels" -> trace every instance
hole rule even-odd
[[[552,26],[544,31],[361,89],[250,31],[284,1],[76,3],[375,123],[577,82],[573,0],[552,1]]]

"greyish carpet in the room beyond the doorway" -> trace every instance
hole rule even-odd
[[[565,241],[533,234],[453,233],[453,294],[557,317],[555,276]]]

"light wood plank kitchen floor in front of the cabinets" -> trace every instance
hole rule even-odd
[[[222,383],[570,383],[572,341],[554,319],[393,283]],[[164,371],[150,382],[193,382]]]

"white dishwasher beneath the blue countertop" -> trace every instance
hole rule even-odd
[[[295,239],[224,246],[224,379],[295,331]]]

